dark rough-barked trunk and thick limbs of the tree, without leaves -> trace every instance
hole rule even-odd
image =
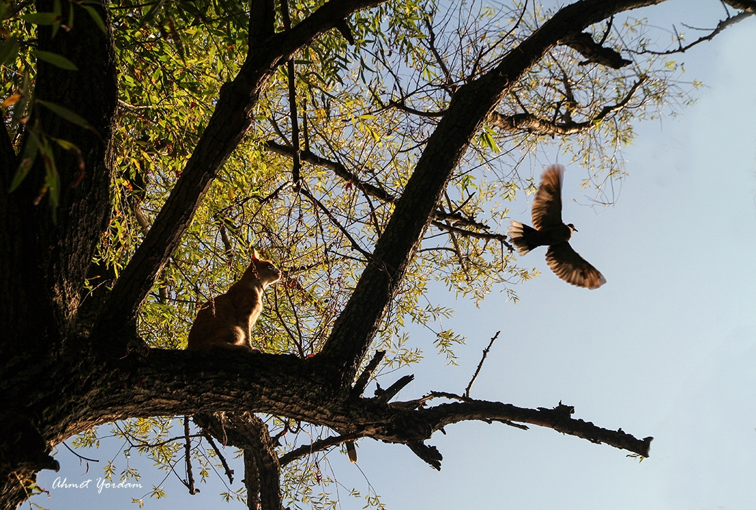
[[[441,455],[424,442],[445,425],[470,419],[546,426],[647,456],[650,438],[638,440],[572,419],[572,408],[561,404],[551,410],[528,410],[450,394],[429,397],[456,402],[389,403],[407,380],[371,398],[362,396],[369,371],[353,383],[404,270],[435,218],[451,172],[503,95],[560,40],[612,14],[660,2],[575,2],[510,49],[489,73],[456,91],[325,348],[306,360],[292,355],[150,350],[129,324],[216,172],[248,130],[250,112],[277,66],[325,31],[344,30],[350,14],[383,2],[331,0],[283,32],[274,31],[272,0],[251,2],[250,51],[242,70],[222,87],[215,113],[160,215],[107,301],[95,307],[99,314],[91,332],[80,325],[77,311],[88,261],[110,214],[116,70],[110,33],[101,32],[85,11],[70,4],[77,10],[74,29],[61,30],[54,38],[41,29],[39,40],[41,48],[63,54],[79,70],[39,63],[35,94],[80,113],[97,134],[72,127],[41,107],[29,121],[39,120],[53,136],[65,131],[63,138],[82,150],[83,174],[73,156],[56,153],[64,188],[57,224],[45,198],[34,205],[42,168],[33,168],[20,189],[7,193],[18,158],[5,125],[0,129],[0,388],[5,403],[0,412],[0,507],[15,508],[28,497],[36,471],[57,467],[49,456],[55,445],[92,426],[136,416],[198,415],[203,422],[201,416],[234,413],[225,426],[236,434],[234,444],[253,449],[247,484],[257,484],[255,497],[262,508],[280,507],[280,496],[265,488],[277,477],[279,459],[272,457],[265,441],[264,424],[251,413],[301,419],[340,434],[314,448],[368,436],[406,444],[435,468]],[[753,2],[729,3],[754,9]],[[51,0],[37,5],[40,12],[52,10]],[[99,6],[98,11],[108,25],[107,10]],[[203,425],[215,434],[228,433],[214,428],[212,420]]]

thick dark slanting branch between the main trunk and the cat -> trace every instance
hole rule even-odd
[[[327,30],[341,26],[345,17],[385,1],[331,0],[291,30],[277,33],[265,41],[257,39],[266,33],[265,24],[258,26],[255,20],[260,13],[252,12],[253,36],[258,44],[250,46],[249,54],[234,81],[222,86],[215,111],[181,177],[150,232],[113,286],[95,328],[95,337],[104,339],[135,317],[139,305],[147,297],[157,275],[187,230],[216,172],[249,129],[251,110],[277,67]],[[259,2],[253,6],[257,4]],[[269,20],[269,4],[263,4],[264,17]],[[121,356],[127,348],[123,342],[113,341],[112,337],[109,342],[108,350],[112,355]]]

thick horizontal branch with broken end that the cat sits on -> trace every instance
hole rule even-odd
[[[56,437],[46,437],[57,444],[71,434],[104,422],[132,417],[199,415],[198,424],[209,428],[224,442],[238,447],[262,444],[263,451],[259,454],[268,452],[268,456],[260,462],[268,471],[277,469],[278,465],[276,460],[271,467],[268,458],[272,449],[268,431],[264,425],[257,426],[259,423],[245,413],[286,416],[324,425],[341,434],[283,456],[284,463],[307,453],[309,448],[319,450],[343,440],[372,437],[406,444],[438,468],[440,454],[433,447],[425,446],[424,441],[447,425],[473,420],[538,425],[642,456],[649,455],[650,437],[639,440],[622,431],[610,431],[573,419],[572,407],[561,403],[553,409],[532,410],[445,393],[389,403],[384,394],[359,398],[354,397],[351,388],[333,388],[324,373],[328,371],[327,368],[321,371],[318,363],[312,363],[311,359],[286,355],[153,349],[147,357],[130,356],[114,361],[104,372],[106,380],[97,390],[70,395],[76,401],[76,414],[81,421],[49,423],[54,426],[43,430],[57,429]],[[403,384],[401,380],[392,386],[401,388]],[[107,391],[103,391],[104,388]],[[392,394],[390,390],[387,392]],[[425,407],[432,398],[461,401]],[[58,405],[70,409],[67,406],[71,404],[61,401]],[[233,426],[214,426],[206,417],[212,413],[227,413],[224,419]],[[54,413],[48,416],[48,419],[53,418]]]

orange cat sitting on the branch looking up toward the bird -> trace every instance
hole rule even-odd
[[[260,260],[257,250],[252,264],[228,292],[202,305],[189,331],[187,349],[212,348],[259,352],[252,346],[252,326],[262,311],[262,291],[280,280],[281,273],[271,261]]]

